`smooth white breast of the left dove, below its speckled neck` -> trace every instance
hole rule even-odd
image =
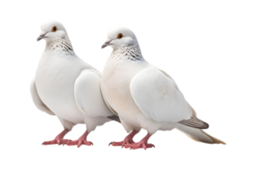
[[[35,84],[38,96],[56,116],[70,122],[81,122],[81,118],[84,117],[74,97],[74,82],[81,71],[82,62],[79,57],[56,57],[44,52],[36,71]]]

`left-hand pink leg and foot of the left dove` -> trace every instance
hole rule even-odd
[[[67,141],[70,141],[71,139],[64,139],[64,134],[67,133],[67,129],[64,129],[61,131],[61,133],[58,133],[54,139],[51,140],[44,140],[42,142],[41,146],[49,146],[49,145],[55,145],[62,146],[67,143]]]

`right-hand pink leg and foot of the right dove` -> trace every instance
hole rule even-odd
[[[134,144],[125,144],[124,149],[129,150],[147,150],[147,149],[153,149],[153,144],[151,142],[151,139],[153,138],[152,135],[147,133],[142,139],[137,141]]]

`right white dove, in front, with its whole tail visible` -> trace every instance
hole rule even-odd
[[[170,73],[143,57],[137,36],[127,26],[111,26],[101,50],[110,47],[102,71],[102,96],[119,115],[126,136],[112,147],[153,149],[154,133],[179,129],[204,145],[225,145],[207,134],[207,122],[196,116]],[[146,135],[137,140],[138,132]]]

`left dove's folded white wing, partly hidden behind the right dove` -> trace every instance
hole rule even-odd
[[[102,97],[101,72],[95,69],[82,71],[75,82],[74,94],[80,111],[85,115],[113,118],[114,112]],[[116,119],[116,117],[114,118]]]

